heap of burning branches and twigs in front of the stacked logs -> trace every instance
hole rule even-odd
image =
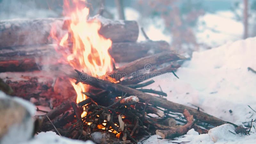
[[[76,79],[76,83],[91,85],[89,92],[82,92],[88,98],[78,104],[70,100],[54,108],[41,118],[40,130],[52,130],[70,138],[89,139],[98,143],[137,143],[145,135],[151,134],[170,139],[186,134],[191,128],[199,133],[207,133],[207,129],[202,129],[198,125],[208,128],[209,125],[217,126],[225,122],[199,109],[168,101],[164,98],[167,96],[164,92],[141,89],[154,83],[153,80],[138,84],[156,76],[151,75],[152,72],[159,75],[173,72],[177,68],[172,63],[167,67],[152,69],[143,74],[147,76],[140,81],[138,81],[138,77],[141,76],[139,74],[126,78],[116,76],[118,73],[136,73],[148,62],[154,66],[183,59],[185,58],[171,52],[158,53],[114,69],[111,75],[103,79],[75,70],[76,72],[69,73],[68,76]],[[124,79],[116,84],[104,80],[108,77],[116,80]],[[68,111],[70,108],[73,109],[72,112]],[[84,111],[87,115],[81,117]],[[99,139],[93,134],[95,132],[101,135],[108,133],[108,137]]]

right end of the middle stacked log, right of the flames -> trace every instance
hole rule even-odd
[[[113,43],[110,54],[116,62],[131,62],[151,54],[170,50],[170,45],[166,41],[126,42]]]

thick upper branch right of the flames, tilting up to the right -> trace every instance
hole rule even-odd
[[[117,68],[116,70],[113,70],[111,72],[111,77],[115,78],[116,80],[120,80],[124,75],[128,76],[129,74],[133,72],[137,72],[140,69],[146,69],[150,70],[153,65],[156,64],[163,64],[166,62],[171,62],[171,61],[177,61],[177,60],[185,60],[186,58],[174,54],[172,52],[161,52],[153,55],[149,55],[144,58],[140,58],[138,60],[134,60],[123,67]]]

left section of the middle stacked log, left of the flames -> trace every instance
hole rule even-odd
[[[61,54],[53,44],[1,49],[0,72],[41,70],[44,65],[58,65]]]

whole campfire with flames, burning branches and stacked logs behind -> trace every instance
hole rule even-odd
[[[17,58],[3,58],[0,65],[2,72],[35,70],[46,65],[62,72],[51,92],[51,84],[41,84],[37,79],[6,81],[14,92],[21,91],[20,96],[31,96],[28,95],[31,91],[24,90],[20,84],[26,85],[32,80],[37,85],[33,89],[40,90],[41,96],[47,93],[46,99],[56,94],[52,91],[58,86],[69,85],[68,90],[63,90],[67,92],[65,94],[68,98],[59,98],[59,102],[51,105],[53,109],[37,117],[38,132],[54,131],[68,138],[93,140],[97,143],[137,143],[143,137],[153,134],[163,139],[175,138],[192,128],[199,133],[207,133],[211,126],[226,123],[202,112],[200,108],[194,109],[168,101],[165,98],[167,94],[162,91],[143,88],[153,84],[155,81],[151,78],[155,76],[168,72],[176,76],[175,70],[180,67],[176,61],[186,59],[169,51],[166,42],[151,41],[143,29],[148,40],[136,42],[139,33],[136,22],[113,22],[100,15],[90,18],[89,8],[82,0],[73,0],[72,3],[65,0],[64,14],[68,19],[48,20],[52,22],[50,29],[46,25],[53,44],[44,41],[49,35],[37,40],[37,44],[45,45],[35,46],[36,49],[34,46],[29,46],[30,49],[20,46],[30,45],[33,41],[28,44],[20,40],[17,45],[8,41],[1,44],[0,41],[2,47],[17,47],[15,50],[6,50],[4,54],[23,52]],[[45,21],[21,23],[45,26]],[[6,23],[12,25],[11,21]],[[6,34],[8,30],[5,29]],[[21,31],[25,33],[28,29]],[[17,35],[12,34],[12,37]],[[154,54],[148,53],[152,50]],[[42,58],[46,53],[51,53],[51,61],[55,59],[55,62],[45,62]],[[118,68],[115,60],[129,63]],[[69,71],[63,72],[60,65],[68,66]],[[43,85],[47,86],[46,90],[42,88]],[[73,89],[75,95],[68,93]]]

